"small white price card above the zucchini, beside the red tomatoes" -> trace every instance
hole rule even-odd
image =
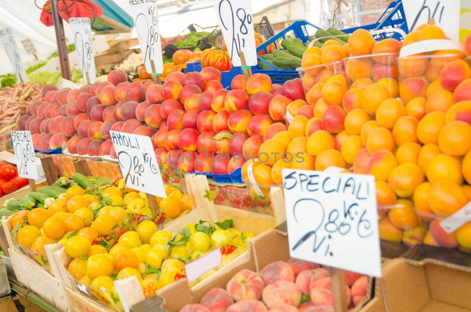
[[[38,180],[38,167],[30,131],[11,131],[13,151],[16,157],[16,168],[21,178]]]

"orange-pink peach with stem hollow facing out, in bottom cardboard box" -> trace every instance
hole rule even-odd
[[[264,287],[265,285],[259,274],[244,269],[236,273],[234,277],[229,280],[226,290],[234,297],[235,301],[244,299],[259,300]]]

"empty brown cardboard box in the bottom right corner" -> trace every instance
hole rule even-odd
[[[471,269],[432,259],[397,258],[383,268],[385,303],[391,312],[471,310]]]

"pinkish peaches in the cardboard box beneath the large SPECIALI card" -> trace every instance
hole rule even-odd
[[[346,305],[351,309],[365,299],[368,278],[345,271],[345,281]],[[180,312],[333,312],[331,284],[329,271],[317,263],[290,258],[287,262],[272,262],[258,273],[239,271],[226,289],[212,288],[200,304],[187,304]]]

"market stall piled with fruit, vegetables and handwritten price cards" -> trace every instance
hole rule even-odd
[[[131,1],[149,36],[100,53],[71,10],[81,80],[17,57],[0,90],[0,280],[64,312],[471,310],[471,35],[388,4],[274,32],[220,1],[164,39]]]

